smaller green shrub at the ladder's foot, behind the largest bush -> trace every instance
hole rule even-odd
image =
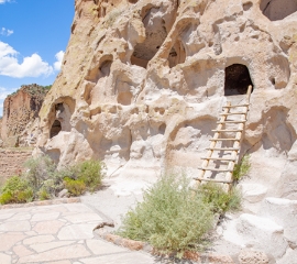
[[[215,213],[235,211],[241,208],[241,194],[234,188],[226,193],[220,185],[207,183],[199,186],[198,196],[212,207]]]

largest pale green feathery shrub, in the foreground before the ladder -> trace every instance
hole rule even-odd
[[[118,233],[132,240],[146,241],[163,253],[201,250],[205,235],[212,228],[209,204],[189,190],[185,176],[165,175],[144,191],[139,202],[123,218]]]

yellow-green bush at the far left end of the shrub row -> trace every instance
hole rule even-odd
[[[7,179],[2,187],[0,204],[28,202],[33,199],[33,190],[26,179],[12,176]]]

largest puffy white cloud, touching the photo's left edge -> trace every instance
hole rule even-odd
[[[53,74],[53,67],[43,62],[38,54],[24,57],[22,63],[19,63],[18,54],[12,46],[0,41],[0,75],[23,78]]]

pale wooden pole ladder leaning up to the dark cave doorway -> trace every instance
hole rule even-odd
[[[217,122],[217,129],[212,130],[215,132],[213,138],[210,140],[210,146],[207,148],[207,155],[201,157],[204,160],[200,169],[200,175],[194,179],[198,180],[198,185],[202,182],[212,182],[223,184],[226,191],[229,191],[231,185],[233,184],[233,169],[238,162],[241,140],[243,135],[244,125],[246,122],[246,116],[250,107],[250,97],[252,92],[252,86],[249,86],[246,94],[246,102],[242,105],[231,106],[231,102],[227,102],[223,107],[220,118]],[[240,110],[239,110],[240,109]],[[239,120],[232,119],[232,117],[240,117]],[[228,128],[230,125],[238,124],[238,128]],[[221,134],[235,134],[234,136],[221,136]],[[218,143],[231,142],[232,147],[218,146]],[[217,154],[217,155],[216,155]],[[219,156],[220,155],[220,156]],[[228,156],[228,157],[227,157]],[[210,166],[210,162],[215,162],[217,166]],[[224,166],[224,168],[221,168]],[[211,172],[211,177],[207,177],[206,173]],[[224,173],[223,178],[217,178],[218,174]]]

